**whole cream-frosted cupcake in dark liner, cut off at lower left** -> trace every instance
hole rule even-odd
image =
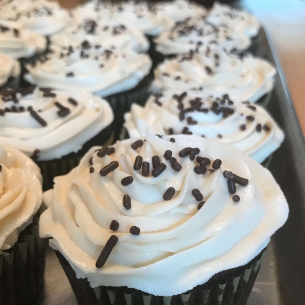
[[[41,173],[15,148],[1,146],[0,163],[0,302],[33,304],[45,267],[45,240],[38,230]]]

